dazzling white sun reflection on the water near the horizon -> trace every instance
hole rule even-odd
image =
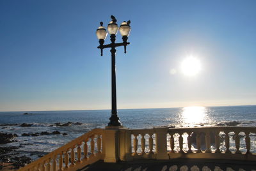
[[[205,107],[184,107],[181,117],[184,124],[205,123],[207,110]]]

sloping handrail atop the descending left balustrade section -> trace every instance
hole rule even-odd
[[[32,163],[29,163],[25,167],[20,168],[19,171],[23,171],[23,170],[27,170],[28,168],[36,167],[39,164],[44,164],[44,161],[52,159],[54,156],[56,156],[58,154],[62,154],[62,152],[64,152],[64,151],[68,151],[68,149],[73,148],[74,145],[77,145],[77,143],[79,143],[79,142],[83,142],[83,140],[86,140],[87,138],[90,138],[93,135],[102,135],[103,131],[104,130],[101,128],[95,128],[87,133],[84,133],[80,137],[77,137],[76,139],[74,139],[74,140],[68,142],[67,144],[59,147],[58,149],[50,152],[49,154],[46,154],[42,158],[39,158],[38,160],[33,161]]]

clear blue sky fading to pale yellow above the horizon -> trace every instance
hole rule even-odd
[[[255,105],[255,9],[256,1],[2,0],[0,110],[111,108],[110,52],[100,56],[95,35],[110,15],[132,27],[127,54],[116,52],[118,108]],[[188,55],[202,64],[195,77],[179,71]]]

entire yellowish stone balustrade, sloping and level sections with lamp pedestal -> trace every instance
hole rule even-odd
[[[256,150],[256,144],[251,141],[255,135],[255,127],[161,127],[138,130],[107,127],[85,133],[20,168],[20,171],[77,170],[98,160],[112,163],[118,160],[178,158],[256,161],[256,154],[251,151],[251,146]]]

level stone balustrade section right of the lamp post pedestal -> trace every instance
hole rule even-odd
[[[124,160],[136,160],[138,158],[157,160],[209,158],[255,161],[256,155],[250,151],[252,145],[250,135],[255,137],[255,133],[256,128],[228,126],[127,130]],[[230,141],[232,139],[234,139],[234,147],[236,147],[233,152],[230,151]],[[244,152],[240,150],[241,141],[244,141]],[[153,142],[155,143],[153,144]],[[256,144],[253,145],[256,146]],[[145,149],[146,146],[147,149]],[[155,146],[155,149],[153,149],[153,146]],[[138,149],[140,149],[140,152],[138,152]]]

